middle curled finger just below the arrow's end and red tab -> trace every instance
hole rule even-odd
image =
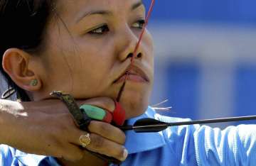
[[[125,134],[119,128],[112,126],[109,123],[101,121],[91,121],[88,126],[90,133],[101,135],[104,138],[114,141],[115,143],[124,144]]]

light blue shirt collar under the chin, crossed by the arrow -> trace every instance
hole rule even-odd
[[[140,118],[157,118],[157,115],[154,109],[149,107],[145,114],[129,119],[127,124],[132,125]],[[127,140],[125,147],[127,148],[129,154],[140,153],[166,145],[162,131],[158,133],[135,133],[134,131],[127,131],[126,135]]]

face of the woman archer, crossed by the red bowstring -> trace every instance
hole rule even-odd
[[[130,55],[144,24],[140,0],[61,0],[48,23],[46,50],[40,56],[40,77],[46,98],[61,90],[76,99],[116,99]],[[148,31],[134,58],[120,103],[127,118],[143,114],[153,84],[153,43]],[[39,67],[40,68],[40,67]],[[121,79],[118,79],[120,78]],[[118,79],[118,80],[117,80]]]

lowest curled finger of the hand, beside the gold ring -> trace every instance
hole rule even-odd
[[[118,143],[114,143],[94,133],[90,134],[90,140],[90,144],[86,146],[87,150],[114,157],[121,161],[124,161],[127,158],[127,150],[124,146],[119,145]]]

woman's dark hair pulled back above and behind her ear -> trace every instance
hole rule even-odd
[[[50,17],[50,0],[0,0],[0,59],[9,48],[28,52],[38,51]],[[18,87],[0,67],[9,87],[16,89],[18,98],[30,101],[26,92]]]

